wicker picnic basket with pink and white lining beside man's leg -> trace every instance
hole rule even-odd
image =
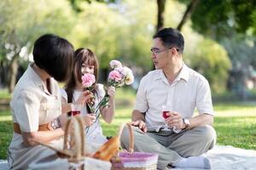
[[[158,160],[158,155],[154,153],[135,152],[134,135],[131,124],[126,123],[129,129],[130,141],[129,150],[126,152],[119,152],[118,156],[112,159],[112,170],[155,170]],[[124,125],[120,127],[119,137],[123,131]]]

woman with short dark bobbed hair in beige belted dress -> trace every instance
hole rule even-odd
[[[61,114],[56,81],[63,82],[71,74],[73,54],[72,44],[55,35],[46,34],[35,42],[34,62],[20,77],[10,103],[14,121],[14,136],[9,144],[10,169],[26,169],[32,161],[53,154],[38,143],[62,147],[67,116]],[[84,95],[84,101],[90,97]]]

